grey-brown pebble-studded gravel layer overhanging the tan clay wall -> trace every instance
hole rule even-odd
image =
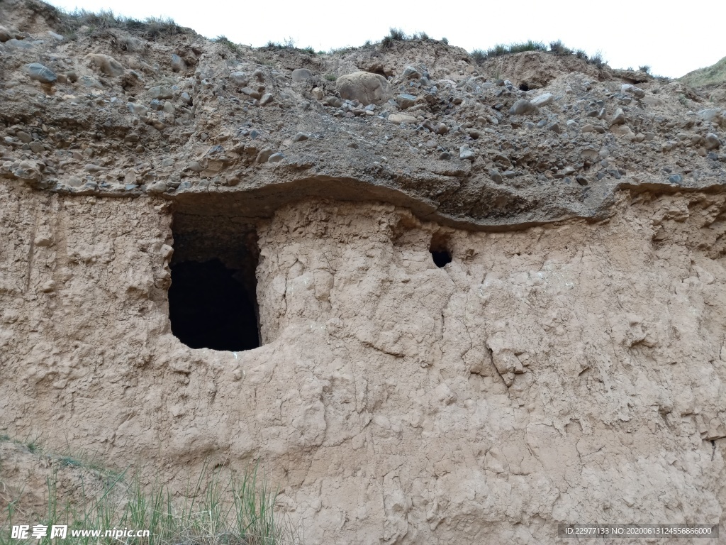
[[[309,195],[376,199],[499,228],[601,219],[622,187],[726,184],[718,105],[574,56],[480,66],[431,40],[311,55],[173,25],[70,34],[45,4],[0,9],[0,176],[43,190],[250,217]]]

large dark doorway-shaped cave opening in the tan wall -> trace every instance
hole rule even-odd
[[[229,218],[174,214],[171,332],[190,348],[260,346],[257,234]]]

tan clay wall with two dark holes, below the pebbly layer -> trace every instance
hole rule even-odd
[[[604,222],[509,233],[380,202],[251,223],[6,182],[0,202],[4,432],[170,483],[264,460],[309,543],[722,520],[724,195],[623,192]],[[189,349],[168,319],[176,243],[250,229],[263,345]]]

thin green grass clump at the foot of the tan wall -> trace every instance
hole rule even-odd
[[[3,437],[6,439],[6,437]],[[56,467],[83,465],[73,458],[52,459]],[[1,467],[0,467],[1,470]],[[261,475],[258,465],[240,475],[222,476],[204,467],[195,483],[187,483],[183,495],[174,495],[165,485],[144,486],[139,475],[127,479],[126,472],[104,472],[102,489],[92,483],[75,483],[80,501],[68,502],[54,469],[46,477],[47,508],[40,520],[28,520],[21,497],[6,498],[7,487],[0,482],[0,545],[27,544],[14,539],[12,525],[68,525],[66,538],[82,545],[301,545],[301,533],[289,520],[274,512],[277,491]],[[0,473],[1,475],[1,473]],[[78,496],[78,493],[76,494]],[[105,530],[149,530],[148,537],[104,536]],[[71,537],[72,530],[102,530],[100,536]],[[28,535],[30,536],[30,532]],[[38,545],[52,545],[57,538],[48,535],[31,539]]]

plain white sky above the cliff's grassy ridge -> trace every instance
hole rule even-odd
[[[726,1],[648,0],[392,1],[385,4],[313,0],[51,0],[137,19],[171,17],[214,38],[224,35],[254,47],[288,38],[297,47],[327,51],[380,41],[391,27],[425,31],[449,44],[487,49],[494,44],[560,39],[588,54],[603,53],[613,68],[650,65],[677,78],[726,56]]]

